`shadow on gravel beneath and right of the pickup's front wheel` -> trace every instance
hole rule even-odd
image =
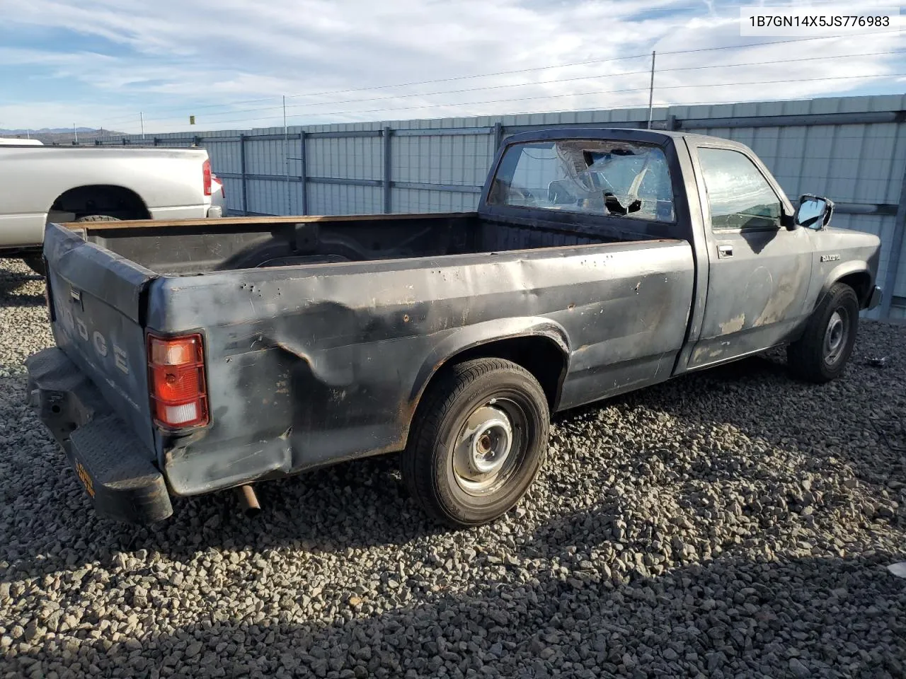
[[[750,439],[802,454],[814,473],[841,463],[864,483],[906,483],[901,369],[867,365],[856,346],[843,378],[815,385],[796,380],[774,352],[710,368],[618,397],[610,404],[644,406],[684,426],[734,426]],[[888,413],[884,409],[888,409]],[[897,429],[884,434],[885,429]]]

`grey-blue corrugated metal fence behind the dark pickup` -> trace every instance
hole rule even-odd
[[[398,120],[101,139],[207,148],[240,215],[349,215],[472,210],[508,135],[551,126],[642,128],[648,110],[589,110]],[[753,148],[788,196],[830,196],[834,225],[882,238],[885,302],[906,318],[906,96],[673,106],[655,129],[690,130]],[[891,294],[892,293],[892,294]]]

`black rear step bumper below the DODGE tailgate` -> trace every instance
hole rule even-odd
[[[94,509],[130,523],[169,517],[167,483],[150,451],[63,350],[43,349],[25,365],[29,404],[63,447]]]

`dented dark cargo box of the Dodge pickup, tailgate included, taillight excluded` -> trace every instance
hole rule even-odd
[[[666,379],[695,271],[683,240],[474,214],[86,226],[45,235],[57,345],[179,495],[400,450],[431,376],[488,339],[540,340],[508,346],[554,409]],[[175,439],[146,334],[199,329],[212,422]]]

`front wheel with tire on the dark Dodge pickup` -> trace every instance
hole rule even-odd
[[[834,283],[812,312],[800,339],[786,349],[795,377],[815,384],[839,378],[853,353],[859,329],[859,298],[845,283]]]

